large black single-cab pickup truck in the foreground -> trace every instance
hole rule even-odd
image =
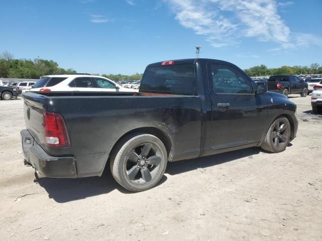
[[[153,187],[168,161],[256,146],[282,152],[298,126],[296,105],[286,96],[212,59],[150,64],[138,93],[23,97],[24,162],[38,177],[101,176],[109,164],[115,180],[130,191]]]

